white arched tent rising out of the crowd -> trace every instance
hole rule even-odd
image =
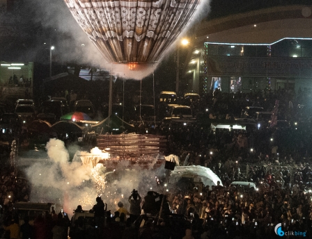
[[[191,178],[195,183],[203,183],[204,186],[216,186],[219,177],[208,167],[203,166],[176,166],[171,172],[169,186],[175,186],[181,178]]]

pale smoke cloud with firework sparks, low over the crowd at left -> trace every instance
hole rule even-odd
[[[26,169],[32,188],[30,201],[58,203],[70,214],[77,205],[90,210],[96,203],[95,198],[101,195],[107,208],[114,212],[118,201],[129,208],[127,199],[133,189],[138,190],[142,198],[149,190],[162,192],[155,176],[164,178],[166,171],[163,165],[154,168],[159,155],[153,156],[153,162],[144,168],[131,161],[116,163],[109,160],[106,167],[102,164],[92,167],[91,164],[83,165],[79,157],[98,156],[98,148],[91,152],[77,151],[72,162],[63,141],[51,139],[46,148],[49,161],[42,160]]]

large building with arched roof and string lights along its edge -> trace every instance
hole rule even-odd
[[[203,21],[186,74],[208,94],[312,88],[312,6],[283,6]]]

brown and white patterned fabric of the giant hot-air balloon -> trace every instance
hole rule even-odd
[[[155,63],[200,0],[64,0],[109,63]]]

